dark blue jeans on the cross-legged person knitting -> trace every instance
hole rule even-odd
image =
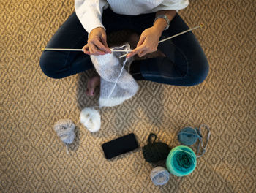
[[[119,15],[104,10],[102,23],[107,36],[113,31],[124,29],[141,34],[152,26],[155,13],[142,15]],[[162,37],[170,37],[189,27],[176,14],[170,22],[170,28],[163,31]],[[46,48],[83,48],[88,40],[88,33],[83,29],[75,12],[56,31]],[[208,61],[199,42],[192,32],[159,43],[158,49],[167,57],[149,58],[135,61],[144,80],[176,86],[194,86],[202,83],[208,75]],[[75,75],[93,68],[90,56],[83,52],[45,50],[39,61],[42,72],[48,77],[62,78]],[[135,66],[135,65],[134,65]],[[136,78],[135,78],[136,79]]]

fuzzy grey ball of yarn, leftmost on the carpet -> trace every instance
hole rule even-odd
[[[70,144],[75,139],[75,124],[69,119],[60,119],[54,125],[54,130],[64,143]]]

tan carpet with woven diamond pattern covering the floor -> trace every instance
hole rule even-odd
[[[105,108],[91,134],[80,110],[90,72],[53,80],[39,68],[49,39],[74,11],[67,0],[1,0],[0,192],[256,192],[256,1],[191,0],[180,15],[205,50],[210,72],[194,87],[139,82],[118,107]],[[60,118],[77,125],[70,154],[53,130]],[[101,145],[134,132],[140,147],[150,132],[172,148],[185,126],[207,124],[211,139],[191,175],[170,175],[165,186],[149,178],[157,164],[141,148],[107,161]],[[195,149],[195,148],[194,148]],[[160,165],[163,164],[159,163]]]

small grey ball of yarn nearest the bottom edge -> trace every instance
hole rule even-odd
[[[169,181],[170,173],[168,173],[165,167],[158,166],[151,171],[150,178],[154,185],[164,185]]]

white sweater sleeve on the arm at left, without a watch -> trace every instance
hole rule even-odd
[[[103,9],[108,7],[106,0],[75,0],[75,13],[82,23],[82,26],[88,32],[91,30],[105,27],[102,24]]]

